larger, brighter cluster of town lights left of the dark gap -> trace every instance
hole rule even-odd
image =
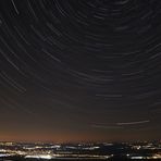
[[[10,149],[10,147],[13,146],[18,146],[18,145],[14,145],[12,143],[1,143],[0,144],[1,147],[5,147],[4,149],[0,149],[0,158],[2,157],[11,157],[11,156],[23,156],[24,158],[28,159],[64,159],[64,158],[83,158],[83,159],[108,159],[113,157],[111,156],[99,156],[99,154],[83,154],[83,153],[74,153],[72,151],[57,151],[61,148],[61,145],[51,145],[51,146],[38,146],[35,144],[35,146],[22,146],[22,150],[17,150],[15,149]],[[8,147],[8,148],[7,148]],[[20,146],[21,147],[21,146]],[[98,146],[87,146],[84,147],[83,145],[78,145],[78,146],[65,146],[65,149],[77,149],[77,148],[82,148],[84,150],[95,150],[95,149],[99,149],[100,147]],[[51,150],[52,149],[52,150]],[[55,152],[57,151],[57,152]]]

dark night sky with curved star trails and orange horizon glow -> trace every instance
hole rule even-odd
[[[161,135],[161,0],[0,0],[0,140]]]

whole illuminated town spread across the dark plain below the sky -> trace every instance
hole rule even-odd
[[[161,141],[44,144],[0,143],[2,160],[161,159]]]

